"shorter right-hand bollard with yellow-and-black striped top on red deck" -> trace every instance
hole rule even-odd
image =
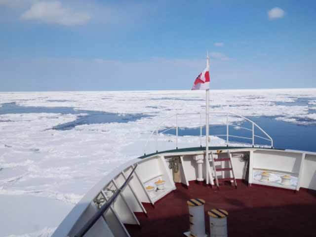
[[[227,237],[228,212],[222,209],[212,209],[207,212],[211,237]]]

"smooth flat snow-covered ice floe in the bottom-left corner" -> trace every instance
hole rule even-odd
[[[0,203],[1,237],[50,236],[60,219],[73,208],[66,202],[31,195],[0,195]]]

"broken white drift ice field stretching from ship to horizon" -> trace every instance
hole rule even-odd
[[[211,112],[233,112],[243,116],[273,116],[283,121],[315,124],[316,89],[211,90]],[[78,118],[78,114],[30,113],[0,115],[0,196],[31,196],[74,205],[102,176],[128,159],[143,155],[144,145],[158,123],[175,125],[176,113],[199,113],[204,121],[204,91],[126,91],[126,92],[18,92],[0,93],[0,103],[21,106],[72,107],[120,114],[146,114],[126,123],[84,124],[71,130],[53,126]],[[299,99],[304,99],[304,103]],[[167,118],[167,119],[166,119]],[[230,122],[240,121],[230,118]],[[188,122],[190,121],[190,122]],[[211,117],[220,124],[226,117]],[[178,125],[199,125],[198,115],[178,116]],[[259,124],[260,125],[260,124]],[[204,139],[203,139],[204,144]],[[224,145],[212,137],[211,145]],[[178,147],[199,146],[198,137],[179,137]],[[159,135],[148,151],[175,148],[172,135]],[[5,206],[0,202],[0,209]],[[41,206],[43,205],[43,206]],[[10,206],[14,209],[14,205]],[[38,204],[36,208],[44,208]],[[40,215],[40,214],[38,214]],[[61,216],[66,215],[62,213]],[[49,215],[48,215],[49,216]],[[62,221],[63,217],[59,217]],[[5,219],[0,214],[0,221]],[[19,219],[18,214],[12,222]],[[50,219],[37,230],[12,229],[12,235],[50,235]],[[56,224],[57,225],[57,224]],[[23,229],[24,228],[24,229]],[[0,229],[0,236],[3,233]],[[39,232],[37,232],[39,231]]]

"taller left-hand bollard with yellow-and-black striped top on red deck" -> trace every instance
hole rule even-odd
[[[187,201],[190,214],[190,231],[184,233],[187,237],[206,237],[204,203],[200,198],[193,198]]]

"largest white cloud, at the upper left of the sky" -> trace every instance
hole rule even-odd
[[[74,12],[64,8],[60,1],[40,1],[21,16],[23,20],[38,20],[44,23],[66,26],[82,25],[90,20],[87,13]]]

